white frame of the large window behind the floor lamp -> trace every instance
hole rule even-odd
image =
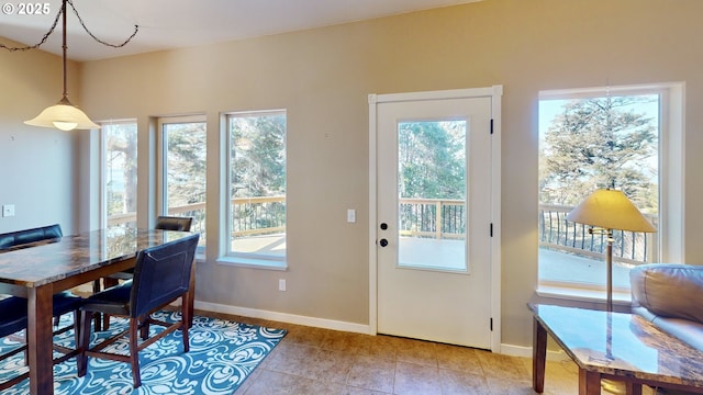
[[[684,83],[662,82],[616,87],[594,87],[582,89],[545,90],[538,94],[538,101],[555,99],[581,99],[605,95],[659,94],[659,225],[658,257],[655,262],[683,261],[684,226]],[[538,242],[538,241],[537,241]],[[537,259],[537,270],[540,262]],[[598,270],[598,269],[595,269]],[[603,273],[605,274],[605,273]],[[605,275],[595,286],[578,282],[543,282],[537,275],[537,294],[581,301],[602,300],[605,290]],[[614,289],[616,303],[631,302],[629,289]]]

